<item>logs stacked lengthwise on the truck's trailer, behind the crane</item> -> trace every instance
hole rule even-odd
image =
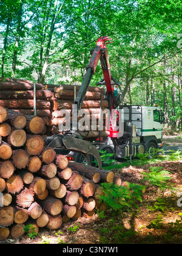
[[[36,115],[44,119],[47,126],[47,133],[59,133],[59,124],[64,124],[66,118],[61,110],[67,110],[72,121],[72,105],[75,93],[78,93],[78,85],[55,85],[36,84]],[[89,87],[84,99],[82,108],[86,115],[90,115],[88,122],[89,127],[85,130],[91,132],[87,134],[87,138],[108,137],[109,132],[104,129],[101,133],[98,130],[92,131],[92,120],[96,119],[99,124],[99,116],[101,109],[108,107],[108,102],[104,99],[105,91],[99,87]],[[29,80],[19,79],[2,79],[0,78],[0,106],[22,113],[24,115],[34,115],[34,92],[33,84]],[[78,116],[78,121],[83,116]],[[98,128],[96,128],[98,129]]]

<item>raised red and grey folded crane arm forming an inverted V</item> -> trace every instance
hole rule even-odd
[[[112,43],[109,37],[101,37],[96,43],[96,47],[93,51],[92,57],[87,65],[87,73],[84,76],[83,83],[78,91],[78,94],[75,99],[75,105],[77,105],[77,109],[81,109],[81,105],[83,104],[84,98],[87,93],[87,89],[90,84],[90,80],[92,79],[93,74],[95,73],[96,66],[98,65],[99,60],[101,60],[101,66],[103,69],[104,80],[107,88],[107,98],[109,101],[109,109],[113,108],[113,88],[112,88],[112,76],[110,74],[110,65],[109,65],[109,57],[107,54],[106,44]]]

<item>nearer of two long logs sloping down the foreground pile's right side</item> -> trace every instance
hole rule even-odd
[[[72,168],[73,171],[78,171],[79,174],[83,175],[87,179],[93,180],[95,183],[98,183],[101,179],[99,172],[96,171],[96,169],[90,168],[90,166],[70,161],[69,167]]]

